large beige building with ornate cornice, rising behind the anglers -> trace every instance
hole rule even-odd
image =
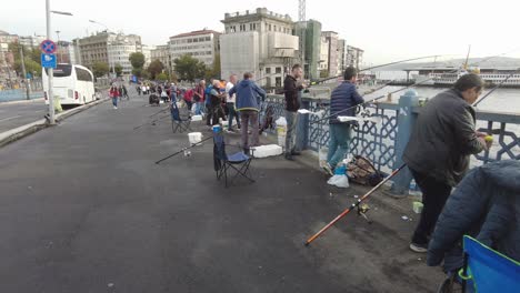
[[[222,77],[252,72],[264,87],[282,87],[284,73],[300,60],[294,23],[266,8],[226,13],[220,37]]]

